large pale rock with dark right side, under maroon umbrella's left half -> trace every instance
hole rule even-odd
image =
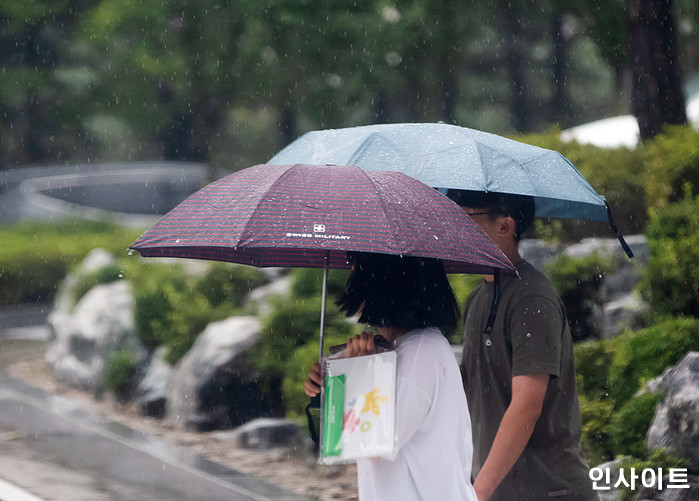
[[[258,374],[245,351],[257,344],[256,317],[209,324],[170,378],[167,420],[179,429],[209,431],[239,426],[268,414]]]

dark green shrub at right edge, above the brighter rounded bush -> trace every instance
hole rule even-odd
[[[650,211],[641,290],[656,315],[699,316],[699,196]]]

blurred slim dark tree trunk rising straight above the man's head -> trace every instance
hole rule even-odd
[[[520,133],[529,132],[530,120],[527,99],[524,92],[524,58],[520,16],[513,0],[504,0],[503,19],[505,23],[505,65],[510,78],[510,115],[512,125]]]

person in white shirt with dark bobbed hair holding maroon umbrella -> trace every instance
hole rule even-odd
[[[347,316],[374,326],[397,354],[396,453],[357,461],[360,501],[476,501],[473,442],[461,373],[442,328],[454,327],[458,304],[435,259],[354,254],[338,301]],[[348,356],[374,353],[374,336],[350,338]],[[320,392],[314,364],[306,394]]]

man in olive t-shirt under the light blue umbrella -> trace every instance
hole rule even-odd
[[[531,197],[455,192],[461,205],[515,264],[502,277],[493,330],[484,334],[493,277],[466,303],[462,373],[473,424],[479,501],[595,500],[580,445],[573,341],[551,282],[518,251],[534,219]]]

